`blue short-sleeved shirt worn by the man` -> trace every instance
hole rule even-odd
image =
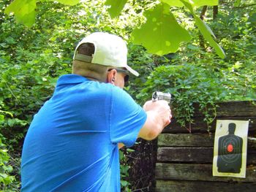
[[[134,145],[145,121],[121,88],[61,76],[26,134],[22,191],[120,191],[118,143]]]

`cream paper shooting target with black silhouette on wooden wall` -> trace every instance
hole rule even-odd
[[[214,136],[213,175],[246,177],[249,120],[217,120]]]

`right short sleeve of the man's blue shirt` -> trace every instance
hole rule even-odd
[[[146,122],[146,112],[129,94],[120,88],[113,88],[112,110],[110,112],[110,139],[113,143],[135,144],[140,128]]]

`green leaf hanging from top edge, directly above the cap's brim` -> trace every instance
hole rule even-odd
[[[124,9],[124,5],[127,3],[127,0],[107,0],[105,5],[111,6],[108,9],[111,18],[116,18],[122,9]]]

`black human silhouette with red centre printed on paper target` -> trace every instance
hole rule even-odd
[[[228,125],[228,134],[219,138],[218,172],[240,173],[243,139],[235,135],[236,124]]]

